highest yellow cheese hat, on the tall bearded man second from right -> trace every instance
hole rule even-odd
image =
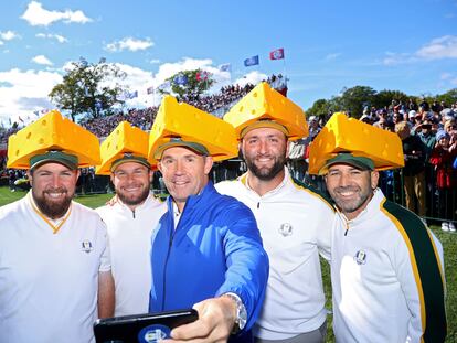
[[[305,111],[265,82],[233,106],[224,120],[234,126],[238,139],[262,127],[279,129],[290,140],[308,136]]]

